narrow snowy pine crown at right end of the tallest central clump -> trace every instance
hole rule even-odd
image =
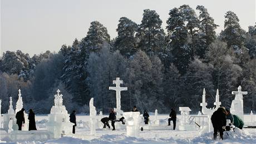
[[[198,43],[196,44],[196,55],[200,58],[204,58],[205,51],[208,48],[209,44],[211,44],[216,39],[215,29],[218,27],[217,24],[214,23],[214,19],[210,17],[207,9],[204,6],[197,6],[196,9],[199,10],[199,20],[200,20],[200,28],[198,33]]]

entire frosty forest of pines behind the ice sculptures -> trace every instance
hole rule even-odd
[[[84,38],[64,44],[57,53],[30,57],[19,50],[4,52],[2,113],[10,96],[16,106],[19,88],[24,108],[36,113],[50,112],[57,89],[68,112],[87,113],[94,97],[97,111],[106,113],[116,106],[115,91],[109,90],[116,77],[128,87],[121,92],[124,111],[136,105],[140,111],[169,113],[171,107],[188,106],[197,112],[203,88],[209,107],[218,88],[222,106],[229,108],[231,92],[239,85],[248,91],[244,111],[256,111],[256,25],[245,31],[228,11],[223,31],[216,34],[218,25],[207,9],[188,5],[170,9],[166,28],[162,23],[156,11],[145,9],[140,24],[121,17],[112,39],[106,27],[93,21]]]

